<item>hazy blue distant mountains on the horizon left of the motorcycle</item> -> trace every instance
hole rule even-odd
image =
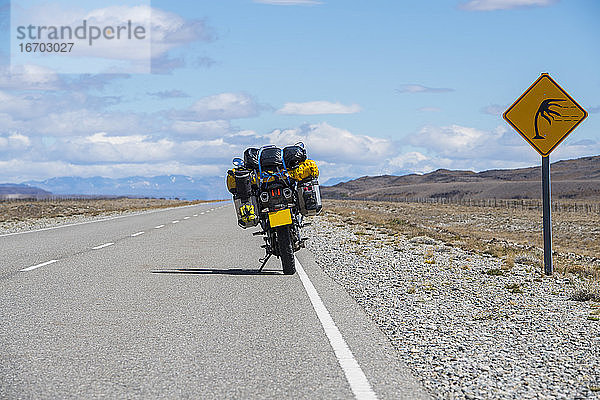
[[[180,199],[226,199],[224,177],[193,178],[184,175],[163,175],[154,177],[132,176],[127,178],[80,178],[61,177],[44,181],[27,181],[20,185],[0,185],[0,195],[6,197],[21,194],[20,197],[47,197],[48,195],[91,195],[91,196],[132,196],[164,197]]]

